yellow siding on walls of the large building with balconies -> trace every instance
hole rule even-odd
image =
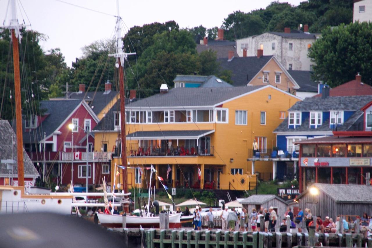
[[[249,86],[248,86],[249,87]],[[269,99],[269,95],[271,99]],[[265,88],[254,93],[242,96],[223,104],[222,108],[228,108],[228,123],[174,123],[174,124],[127,124],[126,133],[135,131],[160,131],[160,130],[215,130],[215,133],[210,134],[211,146],[214,146],[214,156],[143,156],[129,157],[127,161],[132,166],[150,166],[151,164],[158,165],[160,170],[167,168],[167,165],[181,166],[180,168],[193,168],[197,178],[199,168],[215,168],[213,178],[217,180],[217,168],[223,168],[220,177],[220,188],[228,189],[228,181],[236,182],[236,175],[230,175],[231,168],[243,169],[243,177],[247,179],[247,174],[251,175],[251,162],[247,162],[248,150],[252,149],[253,139],[255,137],[266,137],[266,148],[271,149],[276,145],[276,135],[273,130],[283,121],[279,118],[280,111],[287,111],[298,100],[295,96],[284,93],[275,88]],[[235,110],[247,111],[247,125],[235,125]],[[266,112],[266,125],[260,124],[260,112]],[[118,132],[111,133],[95,133],[95,150],[100,150],[102,142],[108,143],[108,150],[111,151],[115,146]],[[181,143],[180,143],[181,145]],[[127,142],[128,150],[130,147],[138,147],[138,141],[132,140]],[[231,162],[232,161],[232,162]],[[113,160],[112,165],[120,164],[121,162]],[[186,167],[182,167],[186,166]],[[256,171],[269,175],[272,172],[271,162],[256,162]],[[165,169],[166,170],[166,169]],[[112,168],[113,171],[113,168]],[[128,171],[129,172],[129,171]],[[132,172],[132,181],[130,185],[134,185],[134,171]],[[112,180],[113,180],[112,174]],[[164,176],[161,175],[162,177]],[[181,176],[182,177],[182,176]],[[254,177],[254,176],[253,176]],[[128,175],[128,178],[129,177]],[[266,176],[265,179],[269,179]],[[183,180],[183,179],[181,179]],[[248,177],[248,181],[252,180],[255,184],[255,178]],[[142,187],[144,187],[144,178],[142,176]],[[247,181],[247,182],[248,182]],[[182,182],[180,182],[182,183]],[[203,184],[203,176],[201,180]],[[240,184],[240,183],[239,183]],[[251,184],[252,185],[252,184]],[[235,185],[234,185],[235,187]],[[237,186],[240,189],[248,189],[248,185],[240,184]]]

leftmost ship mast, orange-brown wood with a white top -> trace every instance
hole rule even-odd
[[[17,131],[17,167],[18,167],[18,186],[24,187],[23,172],[23,136],[22,136],[22,105],[21,105],[21,83],[19,76],[19,53],[18,43],[20,39],[19,25],[16,14],[15,0],[11,1],[12,19],[10,20],[12,43],[13,43],[13,66],[14,66],[14,88],[16,101],[16,131]],[[19,38],[19,39],[18,39]]]

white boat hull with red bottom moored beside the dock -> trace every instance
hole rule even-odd
[[[122,228],[123,217],[121,214],[105,214],[97,213],[98,220],[102,226],[108,228]],[[180,222],[181,214],[170,214],[169,215],[169,228],[181,228]],[[160,217],[139,217],[139,216],[126,216],[126,227],[127,228],[159,228]]]

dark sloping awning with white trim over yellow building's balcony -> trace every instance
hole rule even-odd
[[[127,140],[197,140],[214,133],[214,130],[137,131],[126,136]]]

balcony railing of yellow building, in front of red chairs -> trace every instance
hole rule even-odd
[[[114,156],[120,156],[119,149],[115,149]],[[127,149],[127,156],[213,156],[214,146],[202,147],[146,147],[141,146],[138,149]]]

